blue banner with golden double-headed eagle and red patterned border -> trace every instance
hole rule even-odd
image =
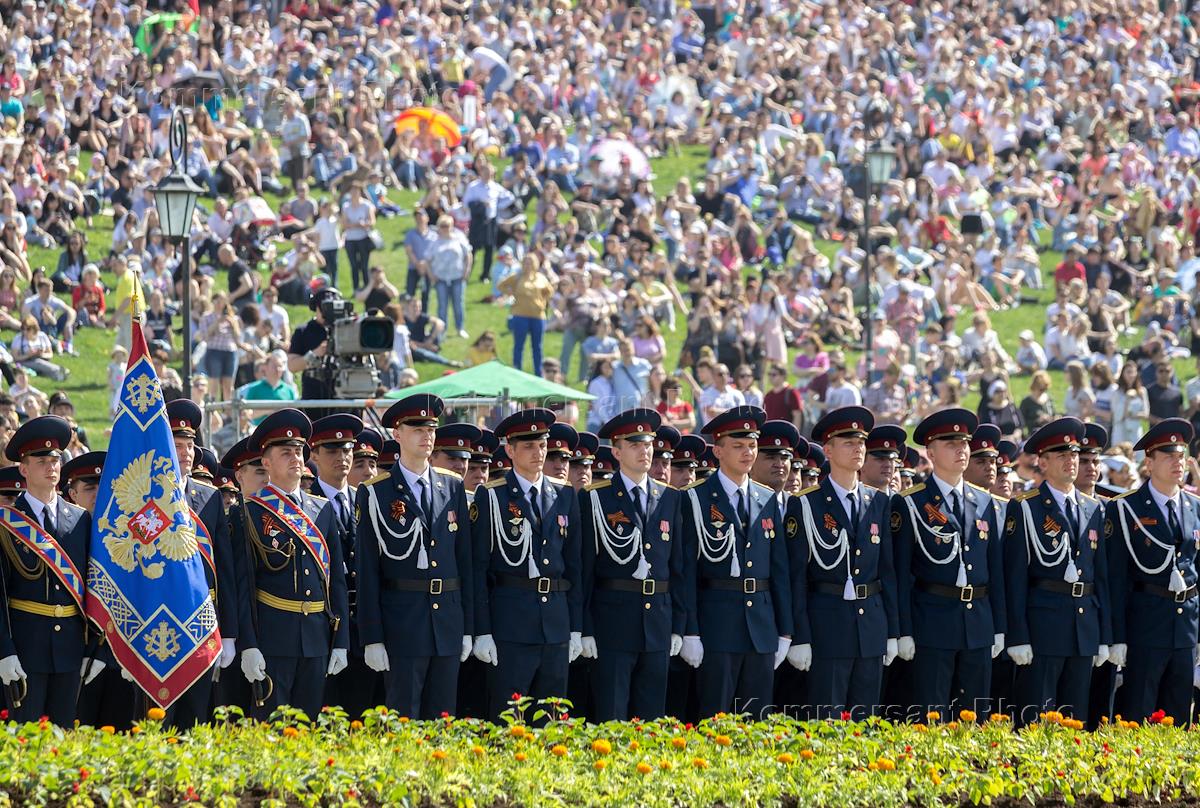
[[[163,708],[221,656],[203,540],[158,376],[134,323],[92,517],[86,612],[121,668]]]

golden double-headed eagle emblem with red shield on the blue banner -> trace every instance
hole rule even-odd
[[[136,457],[113,480],[112,504],[98,521],[113,563],[156,579],[167,561],[196,555],[196,525],[179,485],[170,456],[154,450]],[[164,561],[155,561],[158,557]]]

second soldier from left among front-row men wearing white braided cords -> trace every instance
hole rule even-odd
[[[493,665],[490,714],[514,693],[564,696],[569,664],[582,651],[580,508],[575,490],[548,480],[548,409],[523,409],[496,427],[511,471],[475,493],[470,507],[475,656]]]

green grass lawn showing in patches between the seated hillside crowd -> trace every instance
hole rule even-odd
[[[666,157],[662,160],[654,161],[654,172],[656,179],[654,180],[655,188],[660,192],[666,192],[672,188],[676,181],[680,176],[689,176],[694,182],[698,180],[703,174],[704,160],[707,157],[706,149],[701,146],[685,148],[684,154],[679,157]],[[420,194],[400,191],[392,193],[392,199],[406,209],[410,209],[420,198]],[[277,209],[281,198],[268,196],[268,200],[274,208]],[[202,200],[203,203],[203,200]],[[112,221],[107,219],[96,219],[96,228],[88,232],[89,235],[89,252],[94,257],[103,256],[110,245],[112,237]],[[394,219],[380,219],[379,229],[383,233],[385,250],[382,252],[376,252],[372,257],[373,264],[383,265],[386,270],[389,280],[403,291],[404,286],[404,252],[400,246],[404,232],[412,226],[412,217],[408,215],[397,216]],[[835,243],[818,243],[820,249],[828,256],[833,256],[838,249]],[[30,250],[29,259],[32,267],[44,265],[49,271],[53,271],[58,263],[58,250],[44,250],[35,247]],[[1045,252],[1042,256],[1042,265],[1044,276],[1049,277],[1052,273],[1055,264],[1061,261],[1060,253]],[[756,270],[755,270],[756,271]],[[478,268],[474,273],[478,276]],[[341,269],[340,280],[342,292],[347,295],[350,292],[350,273],[348,262],[346,261],[344,253],[341,256]],[[110,282],[110,277],[104,279],[106,282]],[[220,288],[224,287],[224,277],[217,279]],[[472,280],[467,289],[467,330],[470,333],[472,339],[476,336],[484,329],[491,329],[499,335],[497,351],[499,352],[500,359],[510,361],[512,357],[512,340],[508,333],[506,315],[505,309],[484,304],[481,303],[485,295],[490,292],[490,285],[480,282],[478,280]],[[1039,295],[1039,305],[1025,305],[1016,310],[997,312],[992,316],[992,323],[996,330],[1000,333],[1001,341],[1006,349],[1010,353],[1016,351],[1016,335],[1022,329],[1031,329],[1034,334],[1042,334],[1042,328],[1044,323],[1044,306],[1051,300],[1052,295],[1049,291],[1043,291]],[[430,307],[436,311],[437,297],[431,297]],[[308,318],[308,311],[302,307],[289,307],[289,316],[292,318],[293,327],[305,322]],[[176,321],[178,322],[178,321]],[[970,316],[960,317],[960,328],[970,325]],[[12,335],[4,335],[6,340],[11,339]],[[680,346],[683,345],[684,328],[683,321],[680,319],[678,330],[676,333],[666,333],[664,335],[667,341],[667,355],[677,357]],[[110,419],[108,418],[108,390],[106,382],[106,365],[109,360],[109,352],[112,349],[115,339],[115,333],[110,330],[102,329],[84,329],[76,337],[76,347],[80,355],[78,358],[61,357],[60,360],[65,366],[71,370],[71,377],[64,382],[61,385],[55,384],[49,379],[37,379],[35,385],[42,389],[44,393],[50,394],[56,389],[66,390],[71,394],[72,400],[76,403],[77,417],[82,424],[88,429],[89,437],[92,442],[94,448],[104,448],[108,444],[108,438],[106,430],[110,426]],[[469,341],[461,340],[456,335],[450,336],[445,341],[443,353],[451,359],[462,359],[466,355]],[[562,348],[562,335],[557,333],[547,334],[545,341],[545,353],[548,357],[557,357]],[[529,369],[529,359],[526,359],[526,369]],[[668,360],[668,369],[673,366],[673,360]],[[433,364],[419,364],[418,371],[421,375],[421,379],[433,378],[446,371],[445,367]],[[1189,372],[1189,369],[1182,364],[1181,360],[1181,372]],[[1056,402],[1062,401],[1062,393],[1064,390],[1064,382],[1062,373],[1055,373],[1055,400]],[[1020,400],[1026,391],[1026,383],[1022,381],[1016,381],[1013,389],[1014,399]],[[973,393],[970,395],[966,405],[968,407],[974,407],[978,401],[978,396]]]

